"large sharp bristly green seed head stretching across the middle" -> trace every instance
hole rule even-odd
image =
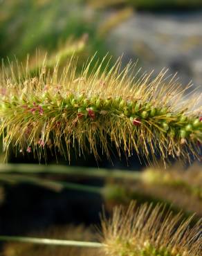
[[[202,122],[194,109],[199,95],[183,102],[185,90],[166,71],[154,79],[152,73],[139,75],[129,63],[121,70],[120,59],[110,69],[105,57],[101,64],[92,58],[77,75],[74,58],[53,72],[46,62],[38,77],[29,68],[2,68],[0,77],[0,135],[3,150],[33,152],[46,158],[46,150],[64,154],[71,150],[110,158],[111,147],[118,156],[136,152],[144,160],[165,161],[168,156],[200,159]],[[107,62],[107,64],[104,64]],[[24,77],[24,78],[22,78]],[[194,95],[193,95],[194,97]],[[100,154],[98,153],[100,150]]]

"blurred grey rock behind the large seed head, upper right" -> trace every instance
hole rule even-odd
[[[156,73],[167,67],[169,74],[178,72],[182,84],[192,80],[202,91],[201,12],[137,12],[114,28],[107,42],[116,56],[126,55],[124,62],[138,59],[143,71]]]

